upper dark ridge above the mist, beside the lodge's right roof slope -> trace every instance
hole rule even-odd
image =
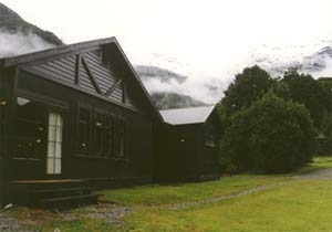
[[[136,65],[135,70],[139,74],[143,82],[153,78],[158,80],[162,83],[170,83],[172,81],[176,81],[179,84],[181,84],[187,80],[187,76],[185,75],[180,75],[173,71],[162,68],[158,66]]]

